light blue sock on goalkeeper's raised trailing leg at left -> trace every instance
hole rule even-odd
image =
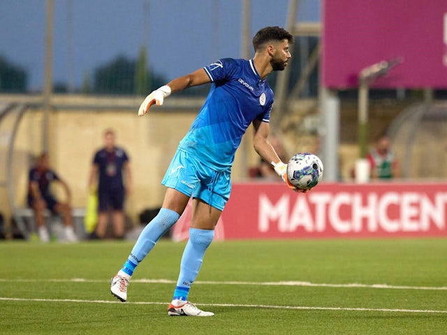
[[[123,265],[122,271],[129,276],[133,275],[135,267],[146,257],[147,253],[154,248],[156,242],[163,236],[179,219],[179,214],[167,208],[162,208],[145,229],[142,230],[129,258]]]

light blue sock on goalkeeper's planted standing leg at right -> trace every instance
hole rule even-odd
[[[189,241],[184,248],[180,274],[175,287],[173,300],[188,299],[191,284],[196,280],[202,266],[203,256],[214,237],[214,230],[189,228]]]

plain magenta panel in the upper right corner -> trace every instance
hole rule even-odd
[[[325,87],[358,87],[362,68],[401,57],[376,88],[447,88],[447,1],[323,0]]]

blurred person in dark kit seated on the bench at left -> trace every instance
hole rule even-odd
[[[50,186],[53,181],[59,182],[64,187],[66,202],[59,202],[51,193]],[[77,241],[78,237],[73,230],[73,217],[71,216],[71,193],[68,184],[62,180],[48,163],[48,155],[41,154],[36,166],[29,171],[28,204],[34,210],[36,225],[41,241],[50,241],[50,235],[45,227],[45,209],[52,214],[60,214],[64,219],[67,241]]]

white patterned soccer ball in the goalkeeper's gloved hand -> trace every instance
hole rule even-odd
[[[287,178],[297,188],[310,190],[323,178],[323,163],[309,152],[296,154],[287,163]]]

